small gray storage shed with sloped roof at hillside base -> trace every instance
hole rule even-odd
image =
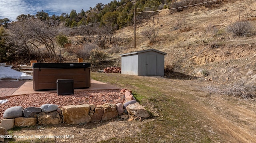
[[[121,74],[164,76],[164,55],[156,49],[121,54]]]

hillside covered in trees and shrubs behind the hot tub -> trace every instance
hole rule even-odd
[[[134,10],[136,10],[136,26],[140,27],[151,20],[159,20],[159,11],[180,12],[183,6],[211,6],[219,3],[207,0],[114,0],[109,4],[96,4],[95,8],[81,12],[71,10],[70,14],[60,16],[44,11],[36,15],[21,14],[15,22],[7,18],[0,20],[0,62],[26,63],[30,60],[40,62],[58,62],[62,57],[76,56],[89,60],[92,49],[109,49],[119,53],[129,49],[132,39],[114,34],[116,30],[134,26]],[[202,3],[202,4],[201,4]],[[154,12],[152,12],[154,11]],[[180,25],[182,26],[182,25]],[[157,29],[149,29],[143,35],[154,43]],[[62,50],[62,52],[61,52]],[[112,54],[108,53],[108,54]],[[104,56],[103,56],[104,57]],[[105,56],[106,57],[106,56]],[[98,59],[93,63],[99,63]],[[62,62],[68,61],[63,59]]]

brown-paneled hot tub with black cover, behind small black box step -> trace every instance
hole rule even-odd
[[[90,63],[33,63],[33,89],[56,90],[58,79],[73,79],[74,89],[91,86]]]

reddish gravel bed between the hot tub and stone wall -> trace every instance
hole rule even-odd
[[[121,97],[121,98],[119,98]],[[104,103],[124,103],[124,94],[120,90],[90,90],[74,92],[73,95],[58,96],[57,93],[26,94],[8,98],[8,102],[0,104],[0,119],[3,118],[4,111],[13,106],[40,107],[43,104],[55,104],[59,107],[67,105],[94,104],[102,105]],[[119,98],[119,99],[118,99]],[[122,100],[121,100],[122,99]]]

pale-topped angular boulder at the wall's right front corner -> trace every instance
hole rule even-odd
[[[138,102],[135,104],[129,104],[126,107],[126,110],[129,114],[134,115],[136,117],[148,118],[150,116],[148,111]]]

